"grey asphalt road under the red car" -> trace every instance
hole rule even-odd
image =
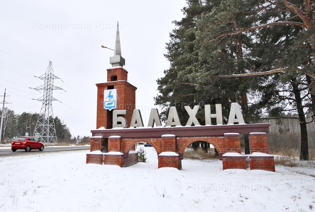
[[[69,146],[69,147],[45,147],[43,151],[38,149],[33,149],[30,152],[26,152],[23,149],[18,149],[16,152],[13,152],[11,149],[0,149],[0,155],[23,155],[23,154],[32,154],[32,153],[47,153],[55,151],[70,151],[70,150],[82,150],[89,149],[90,146]]]

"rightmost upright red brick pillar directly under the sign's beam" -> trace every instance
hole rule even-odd
[[[250,153],[261,152],[269,154],[267,133],[265,132],[249,133],[249,148]]]

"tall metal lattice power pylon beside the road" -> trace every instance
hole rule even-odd
[[[38,116],[33,136],[35,136],[35,133],[39,133],[42,142],[48,144],[51,142],[57,143],[52,101],[58,101],[53,98],[53,90],[62,90],[62,88],[54,86],[54,79],[60,78],[54,75],[51,61],[49,61],[46,73],[38,78],[42,79],[44,84],[34,89],[38,91],[42,90],[44,92],[41,98],[34,100],[41,101],[43,105]]]

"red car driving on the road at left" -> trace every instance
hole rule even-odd
[[[31,151],[31,149],[43,151],[44,144],[40,142],[37,137],[19,136],[16,137],[14,141],[12,141],[11,149],[13,152],[15,152],[17,149],[25,149],[26,152]]]

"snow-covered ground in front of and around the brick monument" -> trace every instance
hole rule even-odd
[[[86,150],[0,158],[0,211],[278,212],[315,207],[315,178],[295,168],[223,171],[219,160],[182,160],[182,170],[157,169],[157,153],[152,147],[145,150],[148,163],[127,168],[85,164]]]

